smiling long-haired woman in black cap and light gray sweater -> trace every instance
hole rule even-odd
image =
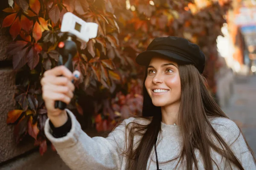
[[[73,97],[70,71],[45,72],[45,134],[71,169],[256,170],[239,127],[207,91],[201,76],[205,57],[198,45],[178,37],[156,38],[136,62],[146,66],[144,117],[125,119],[107,138],[90,138],[73,113],[54,108],[54,101],[68,104]]]

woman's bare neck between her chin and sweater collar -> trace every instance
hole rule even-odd
[[[166,125],[179,125],[178,113],[180,110],[180,102],[173,103],[172,105],[161,107],[162,122]]]

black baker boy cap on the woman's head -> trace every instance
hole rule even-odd
[[[152,57],[162,56],[174,60],[178,64],[192,64],[202,74],[205,56],[198,45],[180,37],[158,37],[149,45],[146,51],[136,57],[139,65],[148,65]]]

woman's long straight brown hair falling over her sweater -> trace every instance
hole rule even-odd
[[[184,160],[186,159],[185,163],[187,170],[192,170],[193,164],[198,170],[194,152],[195,149],[198,149],[202,155],[205,169],[213,170],[212,162],[214,161],[210,155],[210,148],[212,148],[217,153],[224,156],[230,163],[236,165],[240,170],[244,170],[228,144],[210,125],[208,120],[210,116],[228,117],[221,111],[209,91],[207,91],[204,77],[193,65],[179,65],[179,74],[181,101],[178,122],[183,138],[183,147],[180,156],[175,158],[179,159],[176,168],[179,163],[184,163]],[[145,71],[145,78],[146,77],[147,71]],[[144,118],[150,120],[150,123],[147,125],[140,125],[131,122],[126,127],[126,130],[129,132],[125,133],[128,134],[128,136],[125,136],[126,145],[123,155],[128,157],[128,170],[146,170],[151,150],[158,133],[161,133],[161,108],[152,104],[151,98],[145,88],[145,80],[143,83],[143,97],[142,114]],[[209,134],[212,134],[215,139],[217,139],[218,144],[212,141]],[[142,136],[141,140],[138,143],[134,143],[134,136],[137,135]],[[219,148],[218,146],[221,146],[222,148]],[[249,146],[248,148],[251,153],[253,153]],[[217,164],[216,166],[218,167]]]

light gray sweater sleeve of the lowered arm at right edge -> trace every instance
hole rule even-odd
[[[227,127],[228,134],[227,144],[229,144],[236,158],[239,159],[244,170],[256,170],[256,162],[253,158],[252,153],[247,147],[247,144],[244,140],[242,133],[240,132],[239,127],[236,125],[235,122],[231,120],[225,126]],[[233,168],[233,170],[237,169],[237,167],[233,164],[231,164],[231,167]],[[225,163],[225,170],[226,169],[230,169],[228,161],[226,161]]]

